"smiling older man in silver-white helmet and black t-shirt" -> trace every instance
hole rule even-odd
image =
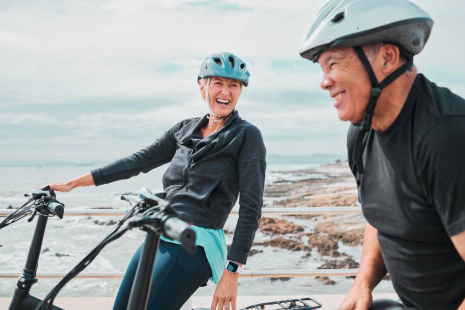
[[[406,0],[332,0],[302,42],[352,123],[348,158],[368,221],[340,309],[370,307],[386,271],[399,308],[465,309],[465,100],[416,72],[431,27]]]

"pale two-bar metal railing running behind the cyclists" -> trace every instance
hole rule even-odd
[[[7,216],[15,209],[0,209],[0,216]],[[237,215],[239,208],[233,208],[230,215]],[[121,216],[125,209],[70,209],[66,216]],[[266,207],[262,215],[314,215],[361,213],[359,206],[314,206],[314,207]],[[249,270],[239,276],[244,278],[279,278],[302,276],[355,276],[358,269],[308,269],[308,270]],[[17,278],[20,272],[0,271],[0,278]],[[62,278],[67,272],[39,272],[39,278]],[[124,272],[81,272],[76,278],[122,278]]]

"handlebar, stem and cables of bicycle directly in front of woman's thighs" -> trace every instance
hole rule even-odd
[[[138,227],[146,232],[145,241],[140,254],[139,262],[127,310],[146,309],[150,285],[152,280],[155,255],[160,242],[160,235],[178,240],[183,247],[189,251],[195,251],[195,231],[190,228],[190,223],[182,219],[164,200],[165,193],[153,194],[143,187],[138,199],[121,196],[121,199],[131,203],[131,209],[118,222],[113,231],[108,234],[87,256],[84,257],[72,270],[66,274],[59,283],[45,296],[38,300],[33,307],[34,310],[55,310],[53,300],[61,288],[81,272],[109,242],[119,238],[127,230]],[[17,308],[23,310],[25,308]],[[16,308],[10,309],[16,310]]]

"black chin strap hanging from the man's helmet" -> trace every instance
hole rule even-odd
[[[364,173],[362,156],[363,151],[366,145],[365,137],[367,136],[369,130],[371,129],[371,120],[373,118],[374,108],[376,107],[376,102],[378,101],[379,95],[383,88],[393,82],[397,77],[402,75],[406,70],[408,70],[413,65],[413,58],[408,59],[404,64],[398,67],[394,72],[389,74],[381,82],[378,82],[376,75],[373,72],[373,68],[368,61],[368,58],[365,55],[365,52],[361,46],[354,46],[358,58],[360,58],[361,63],[368,72],[368,76],[371,82],[371,91],[368,104],[366,105],[365,112],[363,113],[363,121],[361,122],[360,131],[357,134],[355,140],[355,146],[352,153],[352,171],[356,173],[357,184],[361,182],[361,175]]]

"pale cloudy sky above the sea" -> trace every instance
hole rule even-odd
[[[207,113],[202,59],[250,69],[237,104],[268,153],[345,154],[347,122],[298,54],[323,0],[2,0],[0,163],[105,162]],[[465,2],[414,0],[434,20],[418,71],[465,96]]]

